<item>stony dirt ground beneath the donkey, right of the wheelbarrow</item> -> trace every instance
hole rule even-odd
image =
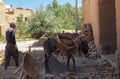
[[[67,71],[66,61],[53,57],[50,61],[51,73],[46,79],[119,79],[119,75],[107,60],[79,58],[76,59],[76,70]],[[54,64],[53,64],[54,63]]]

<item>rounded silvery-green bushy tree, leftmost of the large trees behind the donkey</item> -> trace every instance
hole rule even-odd
[[[39,32],[56,32],[56,18],[52,11],[37,10],[28,21],[27,32],[34,34]]]

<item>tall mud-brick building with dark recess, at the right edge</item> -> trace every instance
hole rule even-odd
[[[97,51],[110,48],[120,55],[120,0],[82,0],[82,4],[83,25],[92,25]]]

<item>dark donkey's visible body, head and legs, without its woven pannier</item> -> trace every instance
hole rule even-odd
[[[49,65],[48,65],[49,59],[50,59],[52,53],[55,52],[56,49],[59,48],[56,38],[48,38],[43,43],[43,48],[44,48],[44,52],[45,52],[45,68],[46,68],[47,72],[49,72]],[[88,42],[86,40],[83,40],[82,38],[80,38],[79,42],[78,42],[78,51],[76,51],[76,52],[82,51],[82,53],[87,57],[88,49],[89,49]],[[69,69],[70,58],[72,58],[72,60],[73,60],[73,67],[75,67],[75,59],[72,56],[72,52],[70,53],[70,55],[69,55],[69,51],[66,51],[66,52],[68,53],[67,54],[67,58],[68,58],[67,69]]]

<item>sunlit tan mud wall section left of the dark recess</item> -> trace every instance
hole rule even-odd
[[[99,50],[98,0],[83,0],[83,24],[90,23],[93,28],[94,42]]]

